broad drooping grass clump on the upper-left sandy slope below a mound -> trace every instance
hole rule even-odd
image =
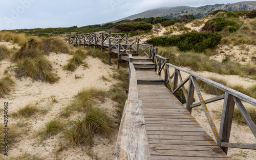
[[[33,81],[40,80],[53,84],[57,82],[58,76],[52,70],[51,62],[44,56],[18,60],[15,68],[15,72],[19,78],[31,77]]]

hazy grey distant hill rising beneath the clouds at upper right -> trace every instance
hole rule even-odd
[[[215,11],[223,9],[229,12],[237,10],[256,10],[256,1],[244,1],[234,4],[216,4],[216,5],[206,5],[201,7],[187,7],[187,6],[178,6],[178,7],[163,7],[148,10],[142,13],[131,15],[113,22],[117,22],[124,19],[136,19],[136,18],[149,18],[149,17],[165,17],[169,19],[179,18],[185,14],[192,14],[196,18],[201,18],[204,15],[207,15],[210,11]]]

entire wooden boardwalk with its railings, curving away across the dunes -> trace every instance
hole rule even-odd
[[[252,134],[256,125],[244,102],[256,106],[256,99],[169,63],[153,45],[119,33],[88,33],[69,36],[75,46],[108,49],[121,62],[129,62],[129,94],[123,109],[114,159],[229,159],[228,148],[256,149],[252,143],[230,143],[234,106],[237,105]],[[140,57],[140,54],[146,57]],[[170,73],[170,68],[174,70]],[[181,72],[188,74],[183,79]],[[164,74],[164,79],[161,78]],[[224,92],[204,100],[197,79]],[[186,89],[184,85],[189,83]],[[165,86],[170,85],[170,90]],[[186,107],[175,97],[183,91]],[[198,103],[193,98],[198,97]],[[223,100],[220,128],[214,124],[208,103]],[[216,142],[191,116],[201,106]]]

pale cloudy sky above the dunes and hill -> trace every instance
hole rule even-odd
[[[101,24],[159,7],[236,3],[215,0],[0,0],[0,30]]]

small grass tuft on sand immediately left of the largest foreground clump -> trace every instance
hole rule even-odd
[[[63,129],[63,123],[59,119],[53,119],[46,123],[45,127],[38,134],[41,135],[43,139],[50,138],[53,135],[58,134]]]

